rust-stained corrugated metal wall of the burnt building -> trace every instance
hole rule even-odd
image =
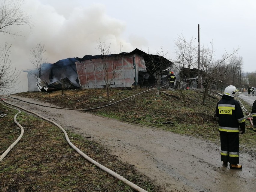
[[[112,79],[113,72],[115,72],[116,75],[111,81],[111,87],[132,86],[135,78],[133,57],[135,57],[136,77],[138,82],[138,72],[147,70],[144,58],[136,54],[126,55],[118,60],[110,58],[106,60],[105,66],[103,65],[104,60],[101,58],[76,62],[81,88],[103,88],[103,85],[106,84],[104,76],[106,79]],[[108,68],[108,70],[104,70],[104,68]]]

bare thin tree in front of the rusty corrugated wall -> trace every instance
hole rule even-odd
[[[98,70],[99,76],[103,79],[106,85],[107,98],[109,101],[109,91],[110,85],[113,83],[114,79],[123,72],[123,66],[119,64],[122,58],[122,48],[120,46],[120,53],[110,54],[110,44],[106,44],[105,41],[97,41],[96,50],[101,53],[102,65],[94,63],[95,68]]]

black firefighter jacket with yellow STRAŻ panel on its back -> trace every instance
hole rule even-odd
[[[238,101],[228,95],[223,95],[216,106],[216,120],[219,123],[219,131],[226,133],[239,133],[245,129],[245,118]]]

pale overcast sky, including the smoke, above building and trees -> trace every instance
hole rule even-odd
[[[0,0],[1,2],[3,0]],[[200,24],[200,45],[213,42],[215,58],[241,48],[243,70],[256,71],[254,63],[256,1],[254,0],[24,0],[22,9],[31,15],[32,31],[20,27],[22,36],[0,34],[1,44],[12,44],[11,61],[19,70],[34,68],[29,52],[45,44],[50,63],[68,57],[100,54],[99,38],[111,44],[111,51],[135,48],[155,54],[163,46],[168,58],[175,58],[174,41],[183,33],[195,38]],[[15,30],[15,29],[14,29]],[[17,29],[16,29],[17,30]],[[26,73],[20,76],[19,91],[27,91]]]

